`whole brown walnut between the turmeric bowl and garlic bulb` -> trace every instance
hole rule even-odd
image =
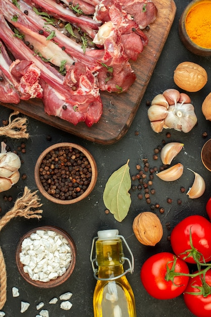
[[[183,90],[196,92],[207,82],[207,73],[203,67],[192,62],[180,63],[174,71],[174,82]]]

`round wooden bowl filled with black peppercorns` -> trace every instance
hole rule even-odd
[[[38,157],[35,182],[51,202],[69,205],[87,197],[97,180],[97,166],[91,153],[75,143],[57,143]]]

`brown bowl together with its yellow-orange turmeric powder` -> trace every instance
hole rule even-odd
[[[193,54],[211,56],[211,0],[193,0],[179,21],[183,45]]]

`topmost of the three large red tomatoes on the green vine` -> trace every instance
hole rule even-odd
[[[195,263],[193,253],[182,254],[190,250],[190,230],[193,247],[200,252],[205,262],[211,260],[211,223],[199,215],[189,216],[179,222],[171,233],[171,245],[174,253],[188,263]],[[187,255],[190,255],[187,257]],[[202,257],[199,255],[202,262]]]

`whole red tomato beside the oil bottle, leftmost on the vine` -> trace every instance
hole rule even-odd
[[[188,276],[176,276],[172,281],[166,281],[167,265],[171,269],[176,256],[170,252],[161,252],[148,258],[141,268],[141,282],[145,290],[154,298],[171,299],[184,292],[188,284]],[[168,263],[171,262],[171,263]],[[168,263],[168,264],[167,264]],[[176,259],[175,272],[189,273],[187,263]]]

